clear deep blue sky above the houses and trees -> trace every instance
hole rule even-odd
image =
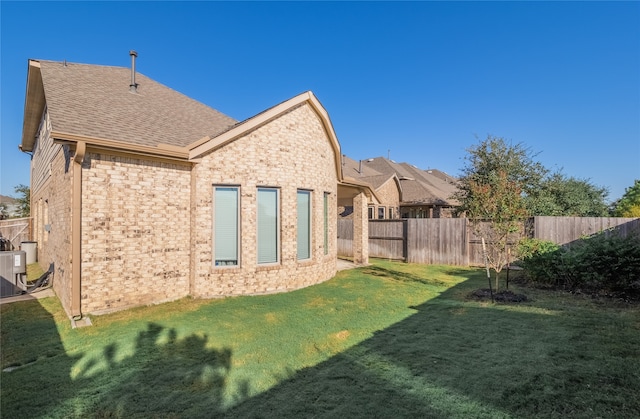
[[[353,159],[458,175],[487,135],[619,198],[640,179],[640,2],[0,2],[0,193],[27,60],[130,65],[242,120],[303,91]]]

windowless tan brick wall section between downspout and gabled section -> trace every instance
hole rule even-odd
[[[82,174],[82,311],[186,296],[190,165],[94,151]]]

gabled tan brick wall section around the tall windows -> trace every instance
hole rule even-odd
[[[315,111],[306,103],[210,152],[193,173],[193,274],[197,297],[272,293],[327,280],[336,272],[337,174],[334,150]],[[214,267],[214,184],[240,185],[241,251],[238,267]],[[257,187],[280,189],[281,248],[275,266],[257,264]],[[312,190],[312,257],[296,256],[296,193]],[[329,197],[329,249],[324,251],[323,199]]]

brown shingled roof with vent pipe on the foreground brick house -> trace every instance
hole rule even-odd
[[[237,121],[131,70],[30,60],[22,149],[32,151],[46,105],[54,138],[93,138],[145,147],[185,147]]]

